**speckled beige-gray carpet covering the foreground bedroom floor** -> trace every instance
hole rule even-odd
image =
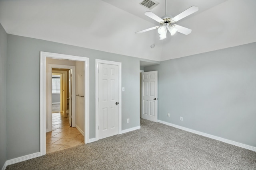
[[[141,129],[6,170],[255,170],[256,152],[141,119]]]

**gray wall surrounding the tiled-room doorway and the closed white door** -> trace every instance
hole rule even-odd
[[[40,151],[40,51],[90,58],[90,139],[95,137],[95,59],[122,63],[122,130],[140,125],[140,59],[9,34],[7,49],[7,159]]]

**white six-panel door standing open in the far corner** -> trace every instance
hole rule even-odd
[[[157,122],[157,71],[141,76],[141,118]]]

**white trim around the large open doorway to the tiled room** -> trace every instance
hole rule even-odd
[[[89,58],[40,52],[40,156],[46,154],[46,58],[84,62],[84,142],[89,142]]]

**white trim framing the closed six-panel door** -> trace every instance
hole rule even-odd
[[[122,63],[95,59],[95,141],[99,140],[99,64],[112,64],[118,66],[118,134],[122,131]]]

